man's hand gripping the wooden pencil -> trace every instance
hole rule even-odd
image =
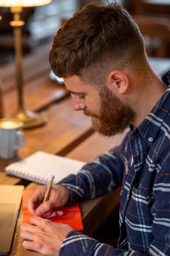
[[[51,189],[49,199],[43,203],[47,186],[39,186],[28,200],[28,211],[34,216],[45,218],[62,215],[61,211],[54,211],[53,208],[64,206],[69,200],[69,189],[58,184]]]

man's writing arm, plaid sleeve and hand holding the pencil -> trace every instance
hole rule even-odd
[[[124,143],[111,151],[102,154],[94,162],[84,167],[77,175],[70,175],[53,186],[50,198],[45,203],[43,199],[47,186],[39,186],[28,200],[28,211],[41,217],[55,217],[58,211],[50,211],[56,206],[63,206],[81,198],[93,198],[106,194],[123,181]],[[49,215],[50,214],[50,215]]]

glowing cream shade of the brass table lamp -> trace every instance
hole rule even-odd
[[[0,7],[36,7],[49,4],[51,0],[0,0]]]

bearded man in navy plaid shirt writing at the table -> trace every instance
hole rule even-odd
[[[54,37],[50,64],[64,79],[72,108],[90,116],[94,129],[107,136],[130,132],[120,146],[56,184],[47,202],[47,187],[36,189],[28,201],[35,217],[21,226],[23,246],[61,256],[170,255],[170,77],[165,84],[150,67],[138,26],[116,3],[89,4]],[[117,248],[39,218],[118,186]]]

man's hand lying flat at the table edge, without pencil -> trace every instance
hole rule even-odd
[[[20,226],[20,236],[25,249],[31,249],[48,256],[58,256],[64,238],[72,231],[72,227],[54,223],[48,219],[32,217],[31,224]]]

